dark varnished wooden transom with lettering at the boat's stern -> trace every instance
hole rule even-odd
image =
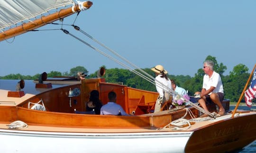
[[[256,114],[224,119],[194,130],[185,152],[225,153],[256,140]]]

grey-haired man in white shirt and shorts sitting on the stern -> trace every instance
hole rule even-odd
[[[223,108],[221,102],[224,99],[224,90],[221,78],[217,72],[213,70],[214,63],[211,60],[206,60],[203,63],[203,71],[205,75],[203,76],[203,85],[200,95],[201,99],[198,100],[201,107],[207,110],[206,101],[214,102],[219,106],[219,116],[224,115],[225,109]]]

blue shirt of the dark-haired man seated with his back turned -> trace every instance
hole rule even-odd
[[[101,115],[118,115],[119,110],[122,116],[129,116],[116,102],[108,102],[101,107]]]

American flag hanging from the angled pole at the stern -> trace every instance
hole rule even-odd
[[[256,69],[254,70],[253,79],[251,85],[245,91],[245,101],[248,107],[252,106],[252,100],[256,97]]]

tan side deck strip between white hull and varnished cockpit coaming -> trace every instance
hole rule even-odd
[[[236,116],[248,116],[254,114],[256,118],[256,112],[247,112],[247,113],[237,113]],[[214,125],[217,122],[221,122],[231,118],[231,113],[218,117],[216,119],[210,119],[207,121],[196,122],[188,129],[183,129],[181,131],[196,131],[202,129],[206,126]],[[197,118],[197,119],[205,119],[205,118]],[[8,129],[8,124],[11,122],[0,122],[1,129]],[[253,123],[255,124],[255,123]],[[167,124],[166,124],[167,125]],[[164,127],[164,126],[163,126]],[[45,132],[83,132],[83,133],[129,133],[129,132],[176,132],[174,130],[175,126],[166,127],[166,128],[155,128],[155,127],[86,127],[86,126],[57,126],[57,125],[42,125],[42,124],[28,124],[27,128],[18,129],[18,130],[26,130],[26,131],[45,131]],[[228,127],[227,127],[228,128]],[[249,128],[249,127],[247,127]],[[254,127],[255,128],[255,127]],[[159,130],[160,129],[160,130]]]

